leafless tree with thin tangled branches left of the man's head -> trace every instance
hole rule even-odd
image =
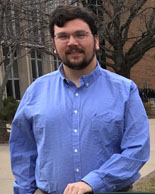
[[[31,50],[53,55],[49,41],[49,11],[52,0],[0,0],[0,47],[5,74],[0,85],[0,108],[11,67]],[[25,49],[23,56],[18,51]]]

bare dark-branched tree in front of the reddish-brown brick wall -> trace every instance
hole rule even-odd
[[[96,2],[100,6],[96,7]],[[155,47],[155,2],[82,0],[82,3],[98,13],[99,36],[105,43],[100,44],[106,58],[102,64],[130,78],[131,68]]]

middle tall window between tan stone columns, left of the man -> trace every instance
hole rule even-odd
[[[31,51],[32,76],[33,80],[43,75],[42,73],[42,58],[39,51]]]

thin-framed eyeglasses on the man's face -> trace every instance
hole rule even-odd
[[[54,37],[56,38],[56,40],[61,41],[61,42],[68,42],[70,39],[70,36],[72,36],[76,41],[82,41],[84,39],[86,39],[89,34],[92,34],[91,32],[86,32],[83,30],[80,31],[76,31],[72,34],[67,34],[65,32],[60,32],[58,34],[56,34]]]

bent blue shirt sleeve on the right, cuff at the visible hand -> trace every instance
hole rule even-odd
[[[118,191],[133,184],[140,177],[138,171],[149,159],[148,118],[133,82],[125,104],[124,134],[120,141],[121,153],[113,154],[99,169],[82,179],[94,192]]]

